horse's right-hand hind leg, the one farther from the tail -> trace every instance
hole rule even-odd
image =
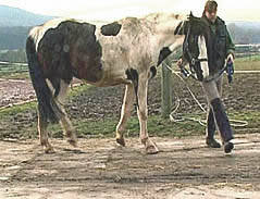
[[[72,126],[72,123],[65,112],[63,102],[65,100],[65,96],[67,92],[69,84],[66,84],[64,80],[61,79],[60,84],[60,91],[59,95],[55,98],[55,102],[58,107],[60,108],[61,112],[63,113],[60,120],[61,126],[63,127],[64,135],[67,138],[67,142],[70,142],[73,147],[77,146],[77,138],[75,135],[75,129]]]

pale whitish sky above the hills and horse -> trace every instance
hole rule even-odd
[[[0,4],[52,16],[112,21],[172,12],[200,16],[206,0],[0,0]],[[218,15],[225,21],[260,22],[259,0],[216,0]]]

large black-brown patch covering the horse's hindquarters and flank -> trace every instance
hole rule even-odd
[[[55,28],[49,28],[39,42],[38,51],[45,63],[45,75],[59,89],[59,84],[53,78],[60,78],[67,84],[75,76],[89,82],[101,78],[102,49],[95,35],[96,26],[89,23],[64,21]],[[71,52],[74,49],[77,55],[72,62]],[[53,77],[52,77],[53,76]]]

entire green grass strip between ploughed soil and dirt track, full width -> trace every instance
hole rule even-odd
[[[15,105],[5,110],[0,111],[0,126],[7,129],[3,135],[14,134],[11,137],[15,138],[37,138],[37,122],[22,123],[17,126],[15,119],[25,117],[32,109],[36,110],[36,102],[29,102],[23,105]],[[233,127],[237,134],[243,133],[256,133],[259,128],[259,111],[249,112],[230,112],[230,119],[246,121],[248,126],[246,127]],[[189,115],[198,117],[198,115]],[[203,120],[205,115],[200,120]],[[75,119],[72,121],[76,134],[78,137],[114,137],[115,127],[119,120],[115,117],[104,120],[91,120],[91,119]],[[232,122],[233,123],[233,122]],[[62,137],[62,128],[59,124],[51,124],[48,128],[51,132],[51,137]],[[148,117],[148,132],[150,136],[159,137],[186,137],[205,135],[205,126],[198,122],[186,120],[184,122],[174,123],[169,119],[162,119],[160,115],[152,115]],[[0,135],[3,136],[3,135]],[[126,126],[126,137],[138,137],[139,135],[139,122],[136,115],[133,115]]]

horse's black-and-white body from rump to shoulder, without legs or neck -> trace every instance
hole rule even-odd
[[[75,76],[110,86],[128,83],[129,67],[156,64],[152,34],[152,23],[145,18],[126,17],[101,26],[55,18],[34,27],[29,37],[47,78],[55,75],[69,83]]]

